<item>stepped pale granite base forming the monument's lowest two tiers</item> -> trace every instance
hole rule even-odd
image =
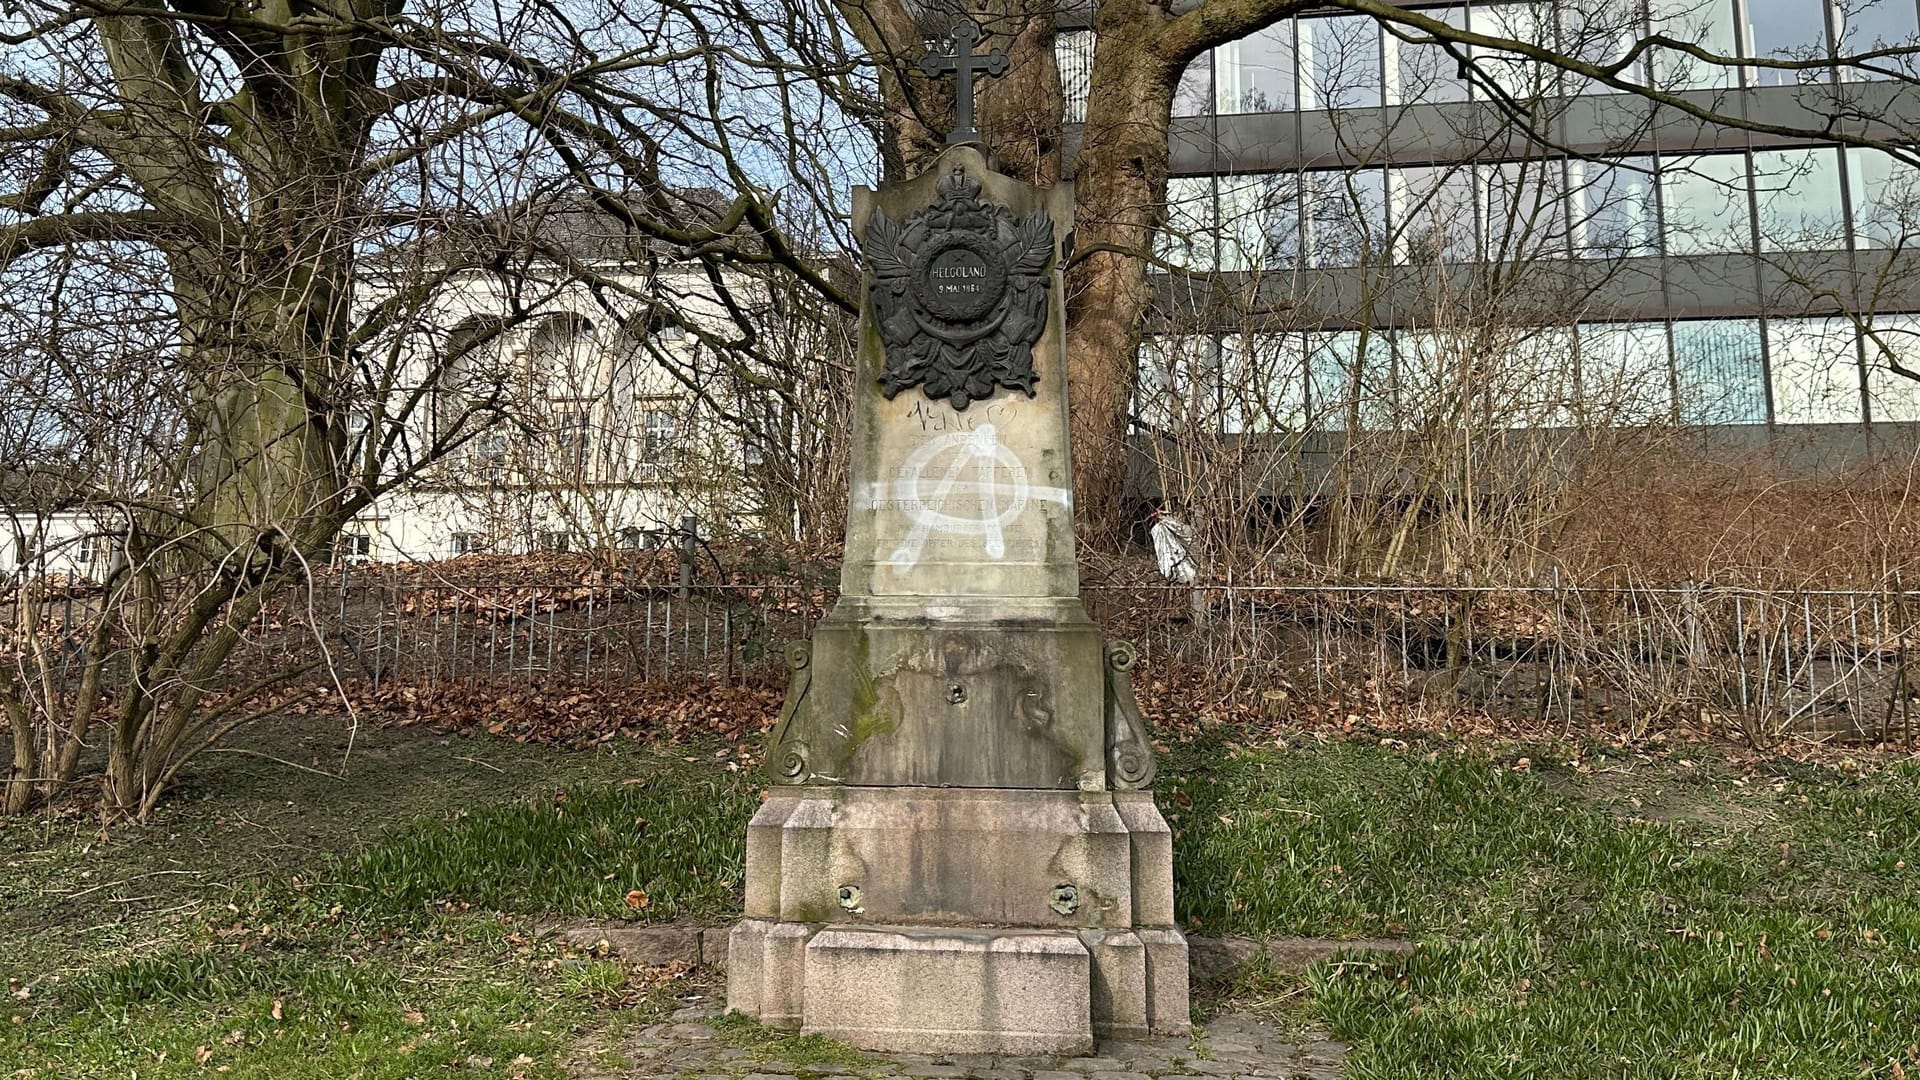
[[[881,1051],[1187,1032],[1171,855],[1146,792],[776,790],[728,1007]]]

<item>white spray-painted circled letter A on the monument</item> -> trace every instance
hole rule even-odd
[[[943,469],[945,467],[945,469]],[[935,475],[937,480],[927,480]],[[893,484],[874,484],[874,509],[899,509],[912,523],[887,563],[906,573],[920,563],[935,532],[979,536],[989,559],[1006,557],[1006,528],[1033,500],[1071,503],[1071,492],[1027,480],[1020,461],[993,425],[943,434],[920,444]]]

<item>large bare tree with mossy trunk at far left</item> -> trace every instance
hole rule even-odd
[[[0,367],[25,373],[4,465],[23,477],[10,490],[113,548],[84,590],[6,582],[4,809],[56,798],[106,732],[102,803],[144,817],[186,761],[271,709],[263,694],[300,671],[236,669],[250,632],[298,621],[286,590],[342,525],[513,405],[513,380],[482,371],[422,423],[449,373],[561,290],[607,284],[503,209],[586,184],[641,277],[662,261],[708,277],[722,325],[691,332],[768,361],[726,271],[816,275],[793,244],[822,208],[774,208],[753,181],[781,158],[743,161],[818,94],[762,79],[764,131],[735,131],[720,96],[766,71],[733,46],[770,56],[776,35],[707,25],[685,6],[401,2],[48,0],[0,17]],[[676,194],[703,179],[728,194]],[[467,279],[505,304],[455,342],[440,304]]]

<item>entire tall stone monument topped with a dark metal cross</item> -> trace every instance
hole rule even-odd
[[[1133,648],[1079,600],[1060,252],[996,173],[962,21],[950,146],[854,190],[866,256],[841,600],[787,648],[728,1007],[866,1049],[1188,1030]]]

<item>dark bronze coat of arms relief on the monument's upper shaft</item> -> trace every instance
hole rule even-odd
[[[887,348],[881,392],[920,386],[966,409],[998,388],[1033,396],[1033,346],[1046,329],[1054,223],[979,198],[966,169],[941,177],[939,198],[895,225],[866,225],[868,296]]]

